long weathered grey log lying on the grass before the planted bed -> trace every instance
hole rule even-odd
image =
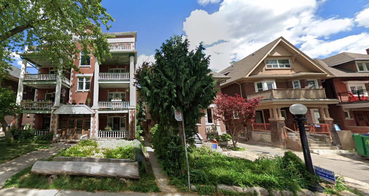
[[[31,172],[43,175],[66,174],[139,179],[138,162],[36,161]]]

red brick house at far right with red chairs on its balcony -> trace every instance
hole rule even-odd
[[[334,123],[352,133],[369,132],[369,49],[366,52],[315,59],[335,76],[323,83],[327,96],[339,99],[329,105]]]

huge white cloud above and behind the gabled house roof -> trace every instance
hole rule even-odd
[[[213,14],[192,11],[183,22],[183,31],[192,49],[204,42],[205,53],[211,55],[210,68],[215,71],[225,69],[232,60],[240,60],[280,36],[301,45],[302,51],[313,58],[346,50],[365,52],[368,48],[366,33],[342,41],[325,41],[339,32],[351,31],[354,21],[361,18],[363,22],[363,16],[368,14],[361,14],[362,11],[356,18],[320,18],[316,11],[323,0],[295,2],[224,0]],[[362,43],[357,44],[355,40],[359,37]]]

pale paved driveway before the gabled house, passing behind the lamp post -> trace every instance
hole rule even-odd
[[[245,155],[245,158],[255,160],[259,157],[259,154],[283,156],[283,153],[287,150],[263,146],[261,144],[254,144],[249,142],[239,142],[238,146],[244,147],[246,151],[231,151],[234,156]],[[304,159],[304,155],[300,151],[294,151],[297,156]],[[334,171],[336,174],[353,178],[359,181],[369,183],[369,161],[363,158],[352,156],[339,156],[339,155],[318,155],[311,154],[314,165],[323,167]]]

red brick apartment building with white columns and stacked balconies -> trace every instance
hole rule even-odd
[[[50,62],[20,53],[23,64],[17,90],[17,104],[24,114],[34,114],[34,129],[50,129],[62,139],[134,138],[136,88],[134,70],[137,62],[137,32],[106,33],[112,58],[99,64],[91,52],[77,54],[75,70],[56,73]],[[27,48],[25,49],[27,50]],[[86,60],[81,60],[86,59]],[[82,62],[82,63],[81,63]],[[37,74],[27,74],[27,63],[38,68]],[[25,98],[26,88],[34,88],[35,96]],[[25,100],[31,99],[31,100]],[[53,101],[51,101],[53,100]],[[14,120],[19,126],[21,119]],[[105,129],[110,126],[111,129]]]

